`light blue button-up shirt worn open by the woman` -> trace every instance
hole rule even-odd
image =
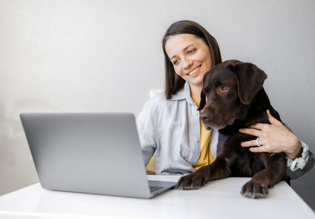
[[[154,170],[157,175],[184,175],[195,171],[200,156],[200,123],[197,105],[191,98],[189,83],[170,100],[159,93],[146,102],[136,119],[145,165],[156,151]],[[210,151],[214,158],[218,145],[218,130],[210,136]],[[303,175],[302,169],[314,155],[301,142],[303,154],[295,160],[287,159],[287,174],[291,179]],[[296,171],[300,169],[301,171]],[[308,168],[307,168],[308,169]],[[307,170],[308,171],[308,170]]]

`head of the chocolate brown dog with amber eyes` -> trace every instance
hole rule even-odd
[[[206,129],[232,125],[240,109],[249,105],[267,78],[252,63],[227,60],[214,66],[203,77],[200,118]],[[207,102],[206,102],[207,98]]]

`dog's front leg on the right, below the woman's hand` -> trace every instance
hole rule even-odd
[[[267,161],[266,169],[256,173],[243,186],[241,194],[248,198],[265,198],[268,195],[268,188],[272,188],[278,182],[287,179],[284,161],[284,154],[273,154]]]

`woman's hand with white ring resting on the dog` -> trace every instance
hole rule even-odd
[[[299,139],[290,132],[280,121],[274,118],[267,110],[270,124],[257,123],[249,128],[240,129],[239,132],[257,136],[260,147],[250,148],[252,152],[284,152],[287,157],[294,160],[302,155]],[[256,140],[242,142],[242,147],[257,146]]]

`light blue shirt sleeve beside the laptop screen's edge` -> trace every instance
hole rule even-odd
[[[157,148],[156,116],[153,114],[152,105],[152,100],[147,101],[136,119],[145,166],[148,165]]]

